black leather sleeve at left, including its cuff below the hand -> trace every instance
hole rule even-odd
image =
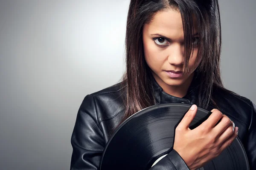
[[[105,147],[102,131],[97,120],[93,96],[87,95],[77,114],[71,137],[73,153],[70,170],[99,170]],[[150,170],[189,170],[180,155],[172,150]]]

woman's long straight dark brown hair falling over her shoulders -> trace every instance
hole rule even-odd
[[[144,59],[142,32],[145,23],[150,23],[156,12],[164,9],[179,10],[185,41],[183,71],[192,53],[192,35],[196,19],[200,46],[197,59],[201,59],[196,69],[198,78],[199,107],[207,108],[212,102],[213,87],[224,89],[220,74],[221,24],[218,0],[131,0],[126,27],[126,72],[122,79],[125,91],[125,117],[155,104],[150,82],[150,68]],[[195,21],[195,20],[194,20]]]

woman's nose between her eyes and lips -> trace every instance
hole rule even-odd
[[[168,62],[174,66],[182,66],[184,63],[184,46],[173,43],[169,48]]]

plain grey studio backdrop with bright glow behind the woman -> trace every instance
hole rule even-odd
[[[225,86],[256,103],[256,1],[219,0]],[[0,1],[0,169],[68,170],[85,95],[124,70],[129,0]]]

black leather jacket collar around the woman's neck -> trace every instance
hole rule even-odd
[[[151,75],[151,82],[153,86],[156,103],[157,104],[166,104],[166,103],[196,104],[198,88],[195,83],[195,80],[196,80],[195,77],[196,75],[194,75],[194,78],[192,80],[191,85],[189,86],[187,94],[183,98],[179,98],[164,92],[162,87],[157,83],[157,81]]]

